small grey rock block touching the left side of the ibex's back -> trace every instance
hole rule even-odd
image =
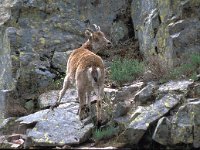
[[[72,51],[67,52],[55,52],[52,58],[52,65],[58,69],[59,72],[66,72],[67,60]]]

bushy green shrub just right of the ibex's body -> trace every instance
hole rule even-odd
[[[144,72],[144,64],[132,59],[113,60],[111,67],[111,79],[119,84],[134,80]]]

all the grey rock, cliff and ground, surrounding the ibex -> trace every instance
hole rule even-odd
[[[198,149],[199,76],[161,83],[147,72],[119,86],[107,72],[102,132],[95,107],[91,118],[78,119],[75,89],[54,111],[49,106],[89,22],[114,45],[98,54],[106,71],[115,56],[145,62],[156,56],[153,67],[171,67],[200,51],[199,10],[199,0],[0,1],[0,148]]]

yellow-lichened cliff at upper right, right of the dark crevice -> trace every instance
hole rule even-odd
[[[169,65],[187,52],[200,52],[198,0],[133,0],[131,7],[140,51],[159,55]],[[190,43],[190,44],[188,44]]]

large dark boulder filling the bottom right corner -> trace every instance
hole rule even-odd
[[[199,107],[199,99],[188,99],[171,119],[163,117],[158,121],[153,139],[163,145],[185,143],[199,148]]]

